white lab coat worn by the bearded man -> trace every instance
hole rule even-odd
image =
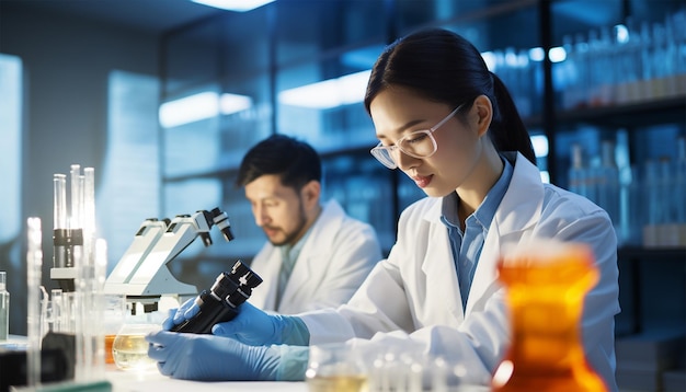
[[[330,200],[306,239],[278,307],[282,257],[268,242],[251,263],[264,284],[252,291],[250,302],[282,314],[338,307],[347,302],[381,257],[375,230]]]

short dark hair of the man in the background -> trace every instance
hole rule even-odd
[[[277,174],[283,185],[299,191],[321,182],[321,159],[315,149],[285,135],[272,135],[253,146],[241,162],[236,185],[245,186],[265,174]]]

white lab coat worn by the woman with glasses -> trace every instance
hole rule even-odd
[[[310,344],[358,337],[388,349],[420,343],[426,353],[465,365],[468,381],[488,382],[510,344],[506,298],[496,277],[499,253],[507,243],[554,238],[587,243],[595,253],[601,279],[585,299],[583,343],[591,366],[610,391],[617,390],[619,287],[613,224],[587,199],[542,184],[538,169],[523,155],[506,157],[514,164],[512,182],[489,228],[465,311],[447,229],[439,220],[441,198],[424,198],[403,211],[388,258],[347,304],[301,314]]]

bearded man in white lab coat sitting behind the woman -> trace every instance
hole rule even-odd
[[[267,238],[251,263],[265,283],[250,298],[258,308],[293,314],[338,307],[381,260],[371,226],[335,200],[322,205],[321,173],[315,149],[285,135],[262,140],[243,157],[236,184]]]

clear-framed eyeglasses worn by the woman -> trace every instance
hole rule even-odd
[[[453,118],[455,114],[464,106],[459,105],[455,111],[450,112],[444,119],[442,119],[435,126],[428,129],[415,130],[411,134],[408,134],[396,141],[393,146],[382,146],[379,142],[375,148],[369,151],[374,158],[376,158],[379,162],[381,162],[388,169],[398,168],[398,163],[393,155],[398,154],[398,150],[403,153],[414,157],[414,158],[428,158],[433,155],[438,149],[438,145],[436,145],[436,139],[432,135],[436,129],[441,128],[442,125],[447,123],[448,119]]]

